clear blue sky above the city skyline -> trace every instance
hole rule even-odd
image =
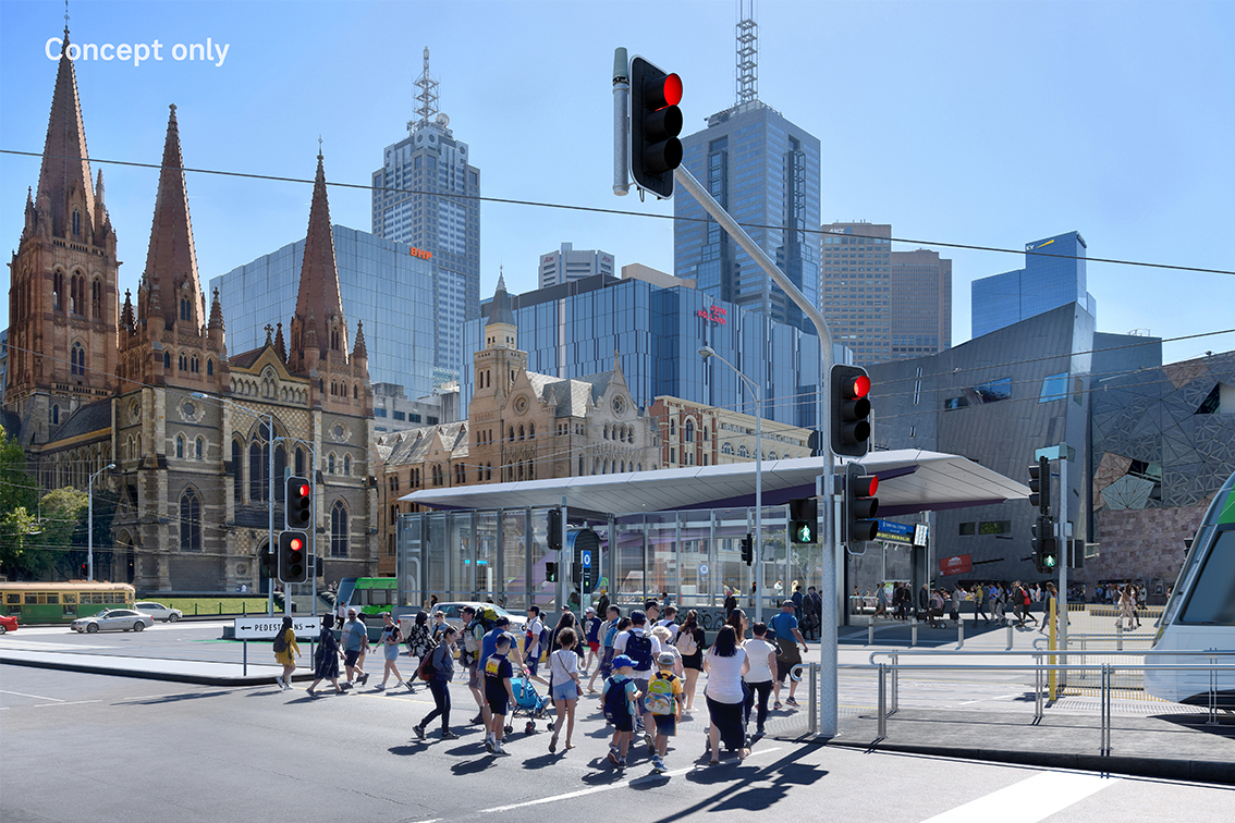
[[[96,158],[158,163],[174,102],[188,167],[311,179],[321,136],[329,179],[364,184],[406,134],[427,46],[483,195],[667,215],[610,191],[613,49],[678,72],[695,131],[734,101],[735,5],[99,0],[73,2],[70,27],[78,43],[163,44],[161,62],[77,64]],[[820,138],[825,222],[1013,249],[1078,230],[1092,257],[1235,269],[1235,4],[763,0],[757,19],[760,97]],[[4,149],[42,149],[56,78],[44,49],[62,28],[62,4],[0,4]],[[221,67],[172,59],[173,44],[207,37],[228,47]],[[101,168],[121,290],[136,291],[157,170]],[[10,249],[37,178],[37,158],[0,155]],[[304,234],[309,185],[201,174],[188,185],[204,280]],[[331,216],[367,231],[368,202],[332,189]],[[664,220],[485,204],[482,297],[499,265],[513,290],[535,287],[537,255],[562,242],[672,271],[672,236]],[[945,255],[961,342],[969,281],[1023,258]],[[1235,327],[1235,276],[1088,270],[1104,331]],[[1228,334],[1166,355],[1233,348]]]

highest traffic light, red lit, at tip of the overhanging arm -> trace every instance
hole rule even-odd
[[[657,197],[673,196],[673,169],[682,164],[682,78],[642,57],[630,63],[630,175]]]

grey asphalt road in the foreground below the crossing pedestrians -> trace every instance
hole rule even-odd
[[[372,681],[371,681],[372,686]],[[453,687],[457,721],[471,707]],[[668,775],[646,755],[625,774],[604,761],[595,698],[580,703],[577,749],[515,734],[485,754],[478,727],[419,743],[426,693],[372,690],[310,698],[303,687],[215,689],[0,665],[0,818],[669,822],[758,819],[881,823],[997,819],[1229,821],[1235,792],[763,740],[745,763],[709,767],[697,724]],[[520,724],[521,726],[521,724]],[[972,806],[971,806],[972,803]],[[492,816],[498,817],[492,817]]]

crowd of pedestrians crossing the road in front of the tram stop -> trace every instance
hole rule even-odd
[[[766,624],[751,626],[736,603],[727,608],[727,619],[711,645],[698,612],[687,610],[680,614],[667,596],[662,601],[650,598],[629,614],[604,598],[598,603],[604,613],[588,607],[582,621],[563,607],[553,628],[532,606],[522,637],[511,632],[509,617],[483,606],[464,606],[461,627],[447,623],[441,611],[432,618],[429,612],[417,612],[406,637],[391,614],[384,613],[377,642],[383,676],[373,689],[384,691],[391,677],[395,687],[409,691],[424,685],[433,698],[433,709],[412,726],[412,733],[424,740],[430,724],[437,723],[440,739],[451,740],[458,734],[451,727],[448,685],[456,675],[466,677],[477,709],[468,726],[483,726],[484,748],[494,755],[508,754],[505,737],[514,713],[526,711],[530,717],[541,717],[550,703],[555,709],[550,753],[557,753],[559,744],[562,753],[574,749],[578,701],[584,693],[599,695],[600,711],[613,728],[609,763],[625,769],[634,753],[646,746],[652,771],[663,772],[678,724],[695,711],[699,675],[706,672],[709,763],[719,763],[722,749],[745,759],[766,734],[769,701],[773,709],[798,707],[800,677],[793,669],[806,650],[804,627],[814,626],[818,635],[818,622],[811,623],[810,617],[816,614],[814,601],[819,595],[814,587],[803,592],[797,584],[793,590],[794,596],[783,600],[781,611]],[[403,649],[415,660],[406,676],[399,670]],[[290,676],[300,650],[290,617],[283,621],[274,653],[284,668],[277,682],[291,689]],[[310,697],[320,695],[324,681],[336,693],[363,687],[369,680],[369,653],[363,613],[341,603],[337,613],[324,616]],[[546,671],[541,671],[542,660]],[[782,703],[787,681],[788,695]],[[546,698],[537,696],[534,682],[545,686]]]

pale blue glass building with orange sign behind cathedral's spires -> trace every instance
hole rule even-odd
[[[429,260],[411,249],[346,226],[333,226],[338,289],[348,339],[356,339],[357,321],[364,322],[369,353],[369,380],[403,386],[410,397],[433,391],[433,275]],[[305,241],[211,278],[219,289],[227,352],[238,354],[266,343],[266,325],[289,323],[296,310],[296,290]]]

